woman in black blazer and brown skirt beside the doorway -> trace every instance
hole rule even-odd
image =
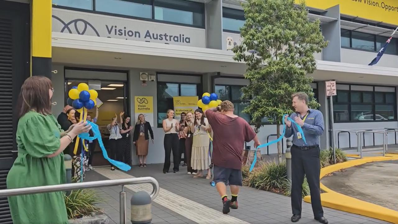
[[[137,119],[137,124],[134,128],[133,142],[136,147],[136,154],[140,160],[140,167],[146,167],[146,156],[148,155],[149,135],[153,144],[153,132],[149,122],[145,120],[143,114],[140,114]]]

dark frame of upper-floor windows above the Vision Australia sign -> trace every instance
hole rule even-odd
[[[133,20],[143,20],[143,21],[148,21],[148,22],[171,24],[171,25],[176,25],[176,26],[185,26],[185,27],[193,27],[193,28],[205,29],[205,6],[203,6],[203,13],[202,13],[202,24],[203,24],[203,26],[197,26],[197,25],[191,25],[191,24],[169,22],[169,21],[164,21],[164,20],[155,20],[154,19],[154,17],[155,17],[154,0],[151,0],[151,4],[150,4],[150,6],[152,7],[151,18],[142,18],[142,17],[137,17],[137,16],[127,16],[127,15],[123,15],[123,14],[115,14],[115,13],[109,13],[109,12],[96,11],[96,0],[91,0],[91,1],[93,2],[93,4],[92,4],[93,10],[87,10],[87,9],[81,9],[81,8],[73,8],[73,7],[69,7],[69,6],[59,6],[59,5],[53,5],[53,8],[73,10],[73,11],[78,11],[78,12],[87,12],[87,13],[99,14],[99,15],[104,15],[104,16],[114,16],[114,17],[127,18],[127,19],[133,19]],[[121,0],[121,1],[130,2],[129,0]],[[195,3],[197,3],[197,2],[195,2]]]

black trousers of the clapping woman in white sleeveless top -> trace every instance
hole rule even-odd
[[[163,172],[168,173],[170,169],[170,155],[173,151],[173,162],[174,167],[173,171],[179,171],[179,161],[181,160],[181,156],[179,156],[179,140],[178,134],[165,134],[164,135],[164,166]],[[179,157],[178,157],[179,156]]]

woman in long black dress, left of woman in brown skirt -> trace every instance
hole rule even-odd
[[[131,161],[131,130],[133,126],[130,124],[131,117],[128,115],[123,116],[124,112],[120,114],[120,122],[122,124],[122,130],[120,134],[122,135],[122,147],[123,147],[123,162],[132,166]],[[122,119],[123,116],[123,119]]]

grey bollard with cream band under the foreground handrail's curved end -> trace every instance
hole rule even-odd
[[[145,191],[131,196],[131,223],[150,224],[152,221],[152,199]]]

